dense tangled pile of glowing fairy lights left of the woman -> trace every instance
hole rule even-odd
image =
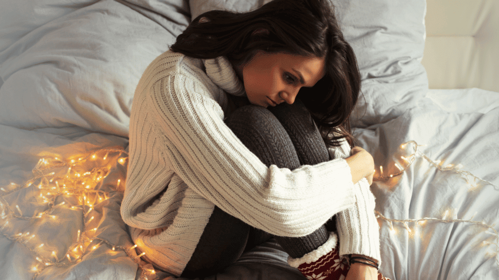
[[[10,183],[0,188],[0,232],[5,238],[23,245],[32,253],[36,260],[29,269],[33,273],[33,280],[46,268],[75,265],[85,255],[101,246],[107,246],[112,252],[119,250],[125,252],[141,269],[140,279],[156,279],[152,265],[140,258],[144,253],[136,253],[137,245],[130,247],[113,244],[98,236],[98,226],[90,226],[95,219],[92,215],[95,207],[108,200],[111,195],[108,191],[100,190],[104,179],[114,165],[126,166],[127,160],[127,152],[122,149],[101,149],[69,159],[47,156],[38,161],[33,168],[33,177],[26,183],[23,185]],[[113,188],[118,190],[123,182],[117,179],[111,183]],[[29,215],[23,212],[32,212],[32,210],[23,211],[19,205],[10,205],[5,196],[22,189],[37,192],[38,196],[33,198],[35,200],[33,204],[36,204],[36,209],[44,210]],[[61,210],[80,211],[79,215],[83,217],[82,229],[74,232],[75,241],[67,247],[66,252],[53,251],[47,245],[48,239],[40,240],[42,237],[32,232],[7,233],[15,232],[14,225],[19,221],[28,221],[29,224],[43,223],[46,219],[57,221],[57,214],[64,213]]]

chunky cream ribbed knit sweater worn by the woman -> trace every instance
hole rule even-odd
[[[346,141],[328,162],[266,167],[225,125],[233,109],[227,94],[245,92],[224,57],[167,51],[139,81],[121,215],[144,257],[180,276],[217,205],[288,237],[310,234],[338,213],[340,254],[380,260],[374,196],[367,180],[352,183]]]

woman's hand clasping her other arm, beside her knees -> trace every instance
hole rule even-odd
[[[372,155],[361,147],[353,147],[351,155],[345,158],[352,172],[352,181],[357,183],[366,178],[369,185],[373,183],[374,159]]]

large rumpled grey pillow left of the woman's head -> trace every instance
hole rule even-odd
[[[189,21],[186,0],[2,3],[0,124],[128,137],[142,73]]]

